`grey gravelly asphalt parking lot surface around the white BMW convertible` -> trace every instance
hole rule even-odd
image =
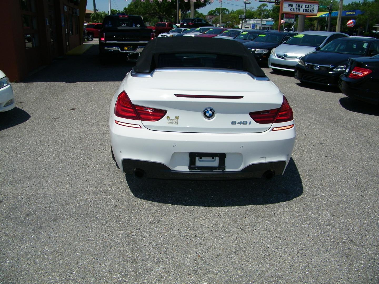
[[[94,45],[12,84],[1,283],[379,282],[377,108],[265,68],[296,121],[285,175],[125,180],[108,112],[131,65],[97,57]]]

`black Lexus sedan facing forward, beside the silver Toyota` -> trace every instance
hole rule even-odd
[[[343,37],[303,56],[295,66],[295,78],[301,82],[337,86],[349,58],[379,53],[379,39]]]

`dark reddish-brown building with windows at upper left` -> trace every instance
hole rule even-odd
[[[11,0],[0,11],[0,70],[20,81],[82,44],[86,0]]]

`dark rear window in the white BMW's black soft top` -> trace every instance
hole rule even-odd
[[[160,54],[158,68],[164,67],[210,67],[243,70],[242,58],[239,56],[200,53]]]

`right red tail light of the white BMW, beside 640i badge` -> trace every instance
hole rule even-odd
[[[287,98],[283,96],[283,103],[279,109],[267,111],[255,111],[249,113],[250,117],[257,123],[279,123],[293,120],[293,112]]]

